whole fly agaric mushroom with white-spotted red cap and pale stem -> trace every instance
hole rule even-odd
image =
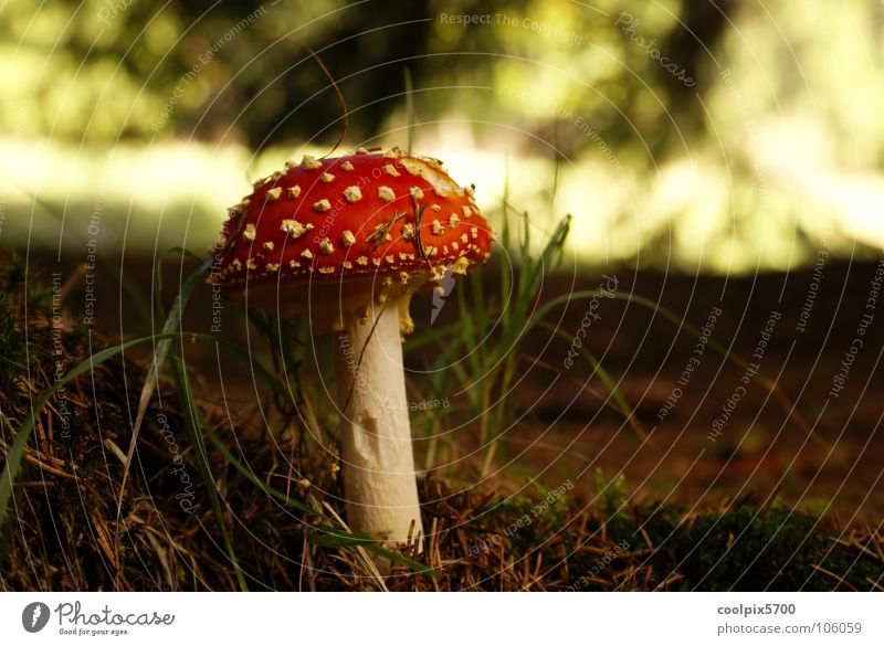
[[[402,368],[412,293],[491,255],[492,233],[440,161],[305,156],[230,209],[212,278],[229,296],[337,332],[347,518],[388,546],[422,526]]]

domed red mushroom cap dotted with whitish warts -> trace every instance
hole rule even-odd
[[[387,152],[301,163],[255,182],[230,209],[212,250],[212,279],[246,284],[465,273],[491,253],[492,232],[438,160]],[[388,280],[389,282],[389,280]]]

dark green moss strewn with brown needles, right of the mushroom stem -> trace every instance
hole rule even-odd
[[[538,554],[549,565],[567,561],[564,587],[586,591],[870,590],[884,574],[874,544],[835,542],[841,532],[817,516],[786,506],[627,508],[622,481],[597,479],[607,494],[590,509],[543,490],[486,505],[474,527],[484,532],[480,544],[503,547],[511,563]]]

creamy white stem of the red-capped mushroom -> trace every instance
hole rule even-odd
[[[347,521],[387,546],[423,534],[397,300],[345,315],[335,346]]]

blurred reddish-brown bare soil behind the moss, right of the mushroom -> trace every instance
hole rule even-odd
[[[775,493],[800,509],[880,527],[884,314],[873,311],[872,325],[864,335],[857,332],[870,311],[870,284],[877,269],[875,264],[828,265],[814,287],[812,269],[739,278],[615,274],[620,290],[684,314],[695,328],[706,326],[719,308],[711,338],[756,364],[789,403],[755,379],[746,383],[746,369],[709,343],[694,352],[701,335],[680,331],[651,309],[606,299],[600,318],[592,319],[587,347],[617,381],[646,437],[606,405],[609,393],[598,379],[587,382],[588,368],[575,368],[554,388],[549,371],[532,369],[518,400],[544,420],[546,431],[538,436],[530,425],[514,428],[506,434],[512,451],[527,449],[520,459],[538,467],[560,464],[561,474],[581,473],[587,490],[593,489],[599,467],[609,476],[624,474],[627,488],[639,499],[702,507],[723,497],[764,500]],[[581,279],[575,290],[600,282]],[[568,293],[569,286],[550,289]],[[807,311],[811,289],[817,296]],[[583,310],[575,301],[560,328],[576,332]],[[543,348],[547,336],[537,335],[526,346]],[[838,391],[842,360],[856,338],[863,346],[848,356],[853,360]],[[759,361],[753,356],[762,340],[767,345]],[[562,366],[567,350],[554,345],[538,353]]]

